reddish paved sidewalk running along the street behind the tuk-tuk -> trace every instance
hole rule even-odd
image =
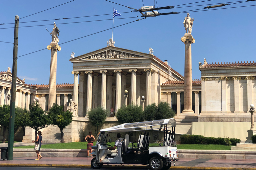
[[[65,168],[91,168],[91,159],[87,157],[43,157],[41,160],[35,160],[35,157],[14,157],[12,161],[0,160],[0,167],[65,167]],[[123,165],[103,165],[103,168],[118,169],[149,169],[145,165],[123,164]],[[173,164],[170,169],[179,170],[256,170],[256,159],[193,159],[181,158],[180,162]]]

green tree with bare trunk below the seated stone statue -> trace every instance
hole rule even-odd
[[[72,122],[73,115],[71,112],[63,112],[63,106],[53,104],[52,108],[48,111],[48,116],[52,125],[60,128],[61,143],[64,143],[63,129]]]

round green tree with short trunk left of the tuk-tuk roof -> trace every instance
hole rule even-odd
[[[95,126],[95,133],[98,134],[99,126],[101,126],[107,118],[106,110],[102,106],[98,106],[88,111],[86,114],[88,115],[89,121]]]

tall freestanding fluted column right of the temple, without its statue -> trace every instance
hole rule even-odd
[[[181,41],[185,44],[185,70],[184,70],[184,110],[182,114],[195,116],[192,110],[192,59],[191,59],[191,43],[195,43],[195,39],[190,33],[186,33]]]

